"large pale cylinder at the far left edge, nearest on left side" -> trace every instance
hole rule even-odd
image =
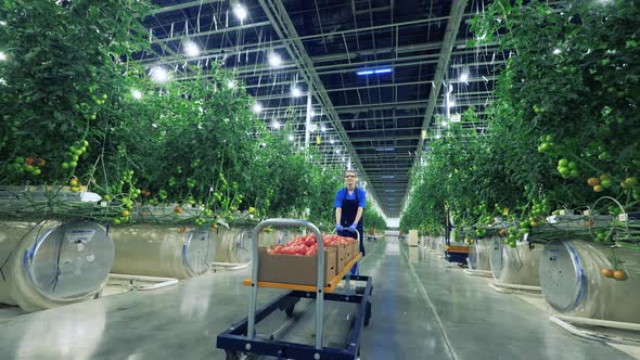
[[[91,299],[113,260],[114,244],[95,222],[1,222],[0,303],[30,312]]]

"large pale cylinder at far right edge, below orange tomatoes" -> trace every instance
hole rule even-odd
[[[540,283],[547,303],[573,317],[640,323],[640,253],[616,248],[627,273],[624,281],[606,278],[612,249],[585,241],[546,245],[540,259]]]

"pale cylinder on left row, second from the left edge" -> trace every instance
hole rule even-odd
[[[113,272],[187,279],[207,272],[215,257],[209,228],[131,224],[112,228]]]

